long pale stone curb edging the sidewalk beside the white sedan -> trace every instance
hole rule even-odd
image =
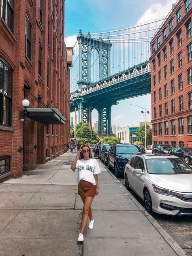
[[[110,173],[110,175],[115,179],[117,184],[122,188],[122,190],[131,198],[133,203],[139,208],[139,210],[145,215],[145,217],[151,222],[151,224],[154,226],[154,228],[160,233],[160,235],[164,238],[164,240],[170,245],[170,247],[174,250],[174,252],[178,256],[187,256],[186,252],[183,251],[183,249],[178,245],[178,243],[175,242],[175,240],[169,235],[163,228],[158,224],[158,222],[145,210],[145,208],[130,194],[130,192],[124,187],[124,185],[115,177],[111,171],[107,169],[105,166],[105,169]]]

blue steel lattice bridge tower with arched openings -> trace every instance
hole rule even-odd
[[[84,87],[93,84],[91,81],[91,54],[92,50],[96,49],[99,58],[99,80],[106,79],[110,76],[110,51],[112,44],[107,38],[107,41],[103,41],[100,36],[99,39],[92,38],[90,32],[87,36],[83,35],[79,30],[77,40],[79,43],[79,80],[78,91],[81,92]],[[78,122],[85,124],[91,124],[92,110],[95,108],[98,111],[98,135],[100,137],[115,136],[111,128],[111,106],[106,102],[100,102],[99,105],[88,104],[83,97],[75,100],[78,107]],[[105,130],[104,130],[105,128]]]

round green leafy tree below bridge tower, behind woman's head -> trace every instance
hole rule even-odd
[[[88,124],[82,124],[82,122],[77,124],[76,137],[77,141],[79,141],[81,144],[90,143],[91,138],[92,144],[96,144],[99,140],[95,130],[91,128]]]

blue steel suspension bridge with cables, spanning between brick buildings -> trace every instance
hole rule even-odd
[[[79,30],[70,70],[71,109],[91,124],[98,111],[98,135],[113,136],[111,107],[119,100],[151,92],[150,41],[165,17],[102,32]]]

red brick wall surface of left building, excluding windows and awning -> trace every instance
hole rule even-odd
[[[54,19],[51,15],[53,6]],[[39,21],[38,0],[24,2],[17,0],[14,8],[13,34],[0,19],[0,57],[8,62],[13,69],[12,127],[0,127],[0,156],[11,156],[12,177],[18,177],[22,175],[23,169],[34,169],[37,163],[45,163],[46,149],[49,157],[47,160],[59,156],[65,151],[70,137],[70,88],[63,34],[64,1],[43,1],[42,24]],[[25,55],[26,13],[32,25],[31,60]],[[39,44],[42,47],[41,77],[38,75]],[[23,62],[25,68],[21,67],[20,62]],[[27,86],[23,91],[25,84]],[[45,124],[37,123],[29,118],[25,123],[21,122],[19,111],[22,111],[21,101],[24,98],[30,100],[30,107],[43,107],[34,96],[49,107],[58,108],[66,117],[66,124],[53,125],[53,132],[52,125],[49,125],[49,134],[47,134]],[[51,154],[51,146],[54,156]],[[19,147],[23,147],[23,151],[17,151]],[[58,154],[56,155],[56,153]]]

